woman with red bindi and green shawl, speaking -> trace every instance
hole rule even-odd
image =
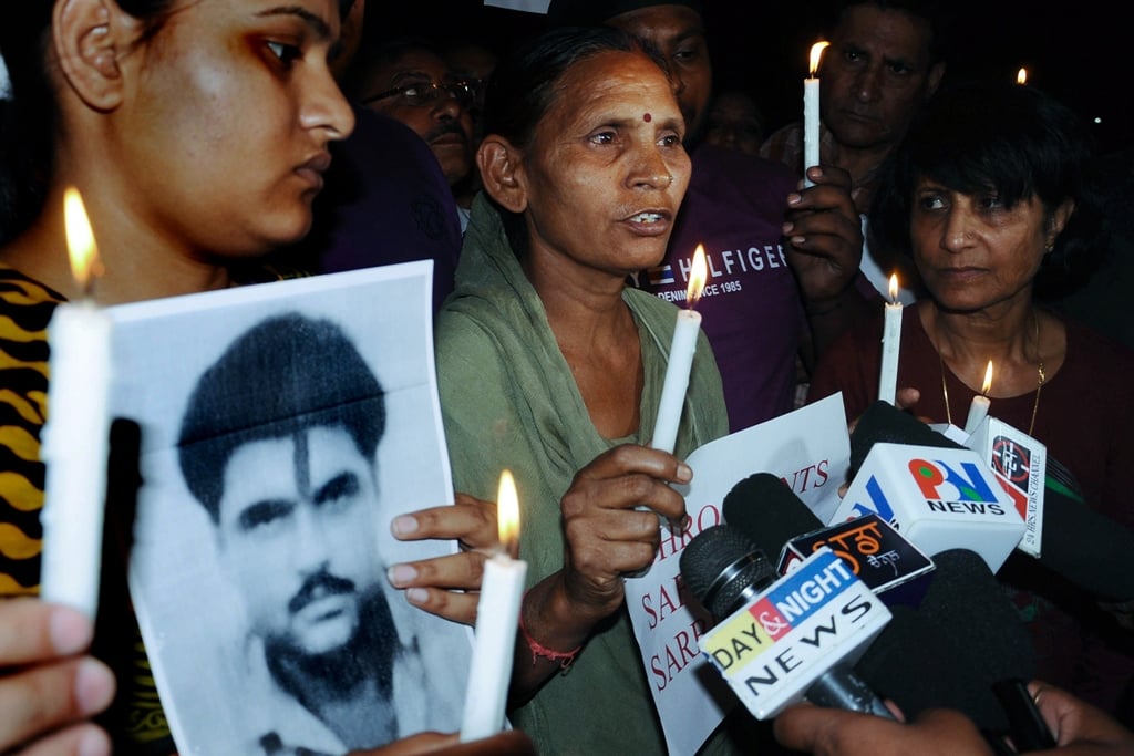
[[[457,490],[489,499],[515,475],[528,592],[513,722],[540,753],[665,753],[623,576],[652,563],[659,516],[685,516],[669,484],[727,419],[701,335],[676,456],[648,448],[678,309],[625,280],[666,252],[685,122],[665,70],[601,27],[501,66],[485,113],[485,194],[437,359]]]

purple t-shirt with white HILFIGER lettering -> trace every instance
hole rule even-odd
[[[733,432],[792,409],[796,355],[806,328],[780,227],[792,171],[702,144],[666,260],[638,286],[684,306],[693,253],[703,244],[709,279],[697,304],[725,383]]]

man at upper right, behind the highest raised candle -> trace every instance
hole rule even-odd
[[[855,209],[865,227],[878,171],[945,75],[945,18],[938,0],[841,0],[833,6],[820,62],[821,165],[850,175]],[[772,134],[760,154],[803,173],[803,124]],[[917,289],[915,271],[896,250],[866,236],[862,271],[866,283],[888,296],[898,273],[900,300]]]

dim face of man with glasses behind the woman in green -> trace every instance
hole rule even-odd
[[[397,40],[359,56],[349,90],[362,104],[401,121],[425,139],[457,199],[464,231],[475,150],[473,87],[459,80],[428,43]]]

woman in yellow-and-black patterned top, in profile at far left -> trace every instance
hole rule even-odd
[[[279,278],[256,258],[307,231],[328,145],[353,128],[330,68],[350,5],[58,0],[0,24],[12,86],[0,122],[0,594],[39,591],[44,329],[59,303],[90,294],[69,271],[65,189],[78,188],[92,218],[100,304]],[[448,508],[458,519],[480,509]],[[485,519],[447,527],[484,545]],[[469,561],[480,558],[445,559]],[[476,569],[466,572],[456,587],[475,588]],[[102,723],[120,753],[164,756],[174,745],[130,632],[125,576],[105,577],[101,617],[113,647],[101,651],[122,656],[108,657],[119,697]],[[77,753],[82,740],[84,754],[109,753],[108,732],[79,722],[107,706],[113,679],[83,655],[91,627],[73,614],[32,598],[0,605],[0,750]]]

